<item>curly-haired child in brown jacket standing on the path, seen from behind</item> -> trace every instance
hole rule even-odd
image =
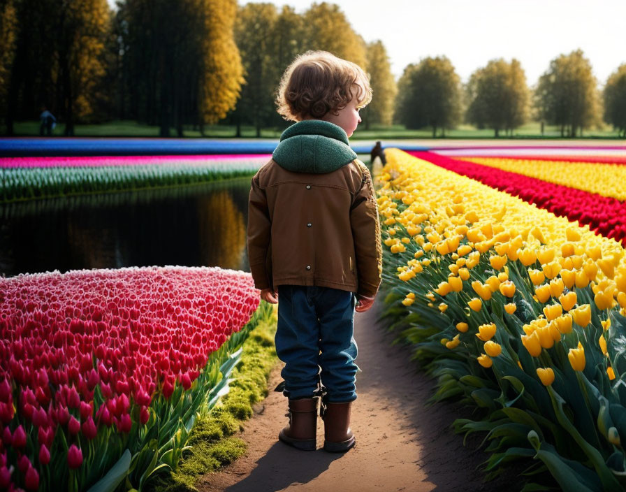
[[[275,342],[289,425],[279,440],[297,449],[316,449],[320,396],[324,449],[355,443],[354,310],[374,302],[381,246],[370,173],[348,137],[371,99],[358,65],[323,51],[300,55],[277,96],[278,112],[296,124],[252,178],[248,258],[261,298],[280,301]]]

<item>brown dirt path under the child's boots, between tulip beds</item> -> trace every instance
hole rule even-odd
[[[476,467],[487,455],[463,447],[462,437],[450,428],[457,407],[425,406],[432,379],[416,371],[408,349],[391,345],[393,336],[377,323],[379,309],[377,304],[356,315],[356,362],[363,370],[357,374],[352,414],[356,446],[346,454],[323,451],[321,419],[317,451],[279,442],[286,399],[270,392],[240,435],[248,443],[247,454],[205,475],[198,484],[201,492],[511,490],[510,482],[483,483]],[[281,380],[280,368],[272,372],[270,389]]]

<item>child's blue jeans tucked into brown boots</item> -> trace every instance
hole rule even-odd
[[[356,400],[356,296],[328,287],[279,285],[278,301],[275,342],[285,363],[284,395],[310,398],[321,379],[329,402]]]

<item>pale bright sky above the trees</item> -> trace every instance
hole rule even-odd
[[[279,7],[290,5],[303,13],[312,1],[271,3]],[[502,57],[521,61],[527,83],[534,85],[548,70],[552,59],[580,48],[603,85],[620,64],[626,63],[625,0],[331,0],[330,3],[340,6],[365,41],[383,42],[396,78],[409,63],[445,55],[461,80],[467,82],[477,68],[485,66],[490,59]]]

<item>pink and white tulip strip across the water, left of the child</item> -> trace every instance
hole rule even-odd
[[[254,174],[267,160],[267,156],[0,159],[0,203],[236,178]]]

